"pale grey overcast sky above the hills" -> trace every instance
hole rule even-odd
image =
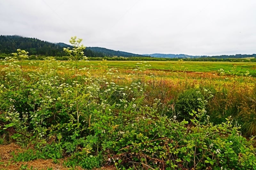
[[[256,0],[0,0],[0,34],[136,54],[256,53]]]

